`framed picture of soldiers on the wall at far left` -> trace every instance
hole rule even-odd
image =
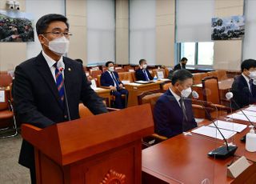
[[[0,42],[34,42],[32,14],[0,10]]]

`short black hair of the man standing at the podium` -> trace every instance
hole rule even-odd
[[[61,21],[64,22],[67,26],[67,28],[70,28],[69,23],[67,22],[67,18],[62,14],[46,14],[42,16],[42,18],[38,19],[38,22],[36,24],[37,34],[43,34],[46,32],[49,24],[54,21]]]

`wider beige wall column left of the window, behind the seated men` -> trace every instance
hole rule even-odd
[[[156,1],[156,64],[174,66],[175,0]]]

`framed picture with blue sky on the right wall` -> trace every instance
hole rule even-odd
[[[211,19],[212,40],[242,39],[245,34],[245,18],[242,15]]]

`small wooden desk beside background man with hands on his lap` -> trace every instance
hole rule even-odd
[[[139,94],[150,90],[160,90],[160,84],[162,84],[162,81],[149,84],[138,84],[134,82],[126,84],[126,90],[129,91],[128,106],[137,106]]]

